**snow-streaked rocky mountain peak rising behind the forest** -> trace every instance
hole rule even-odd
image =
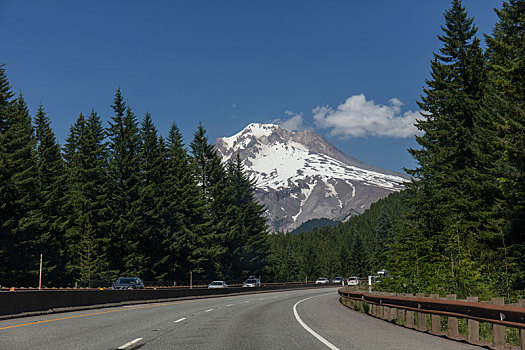
[[[224,162],[239,153],[276,231],[291,231],[312,219],[343,221],[401,190],[408,179],[344,154],[321,135],[274,124],[250,124],[218,138],[215,149]]]

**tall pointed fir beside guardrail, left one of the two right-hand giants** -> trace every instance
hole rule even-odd
[[[408,171],[417,179],[409,188],[418,230],[430,241],[428,282],[442,292],[468,294],[483,286],[473,133],[484,60],[461,1],[453,0],[444,17],[443,47],[434,53],[432,79],[419,102],[416,126],[423,134],[416,137],[421,148],[410,149],[418,167]]]

